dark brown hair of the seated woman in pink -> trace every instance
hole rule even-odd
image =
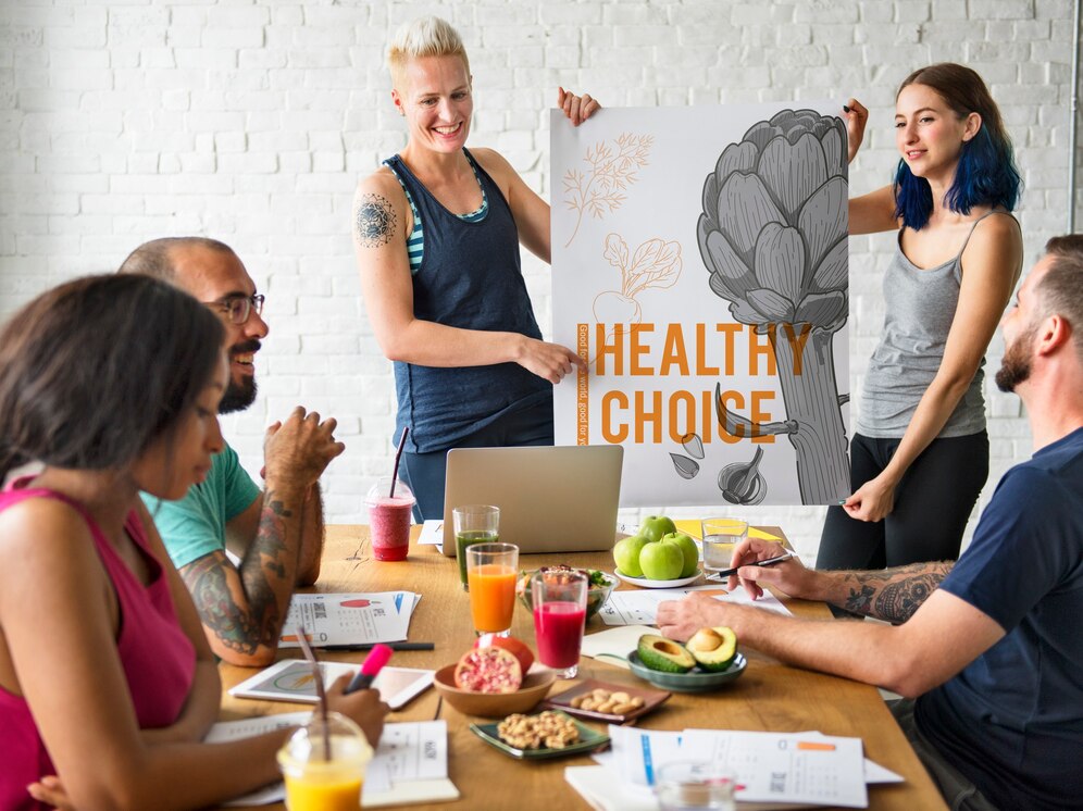
[[[30,461],[130,463],[191,408],[223,337],[210,310],[147,276],[86,276],[40,295],[0,332],[0,482]]]

